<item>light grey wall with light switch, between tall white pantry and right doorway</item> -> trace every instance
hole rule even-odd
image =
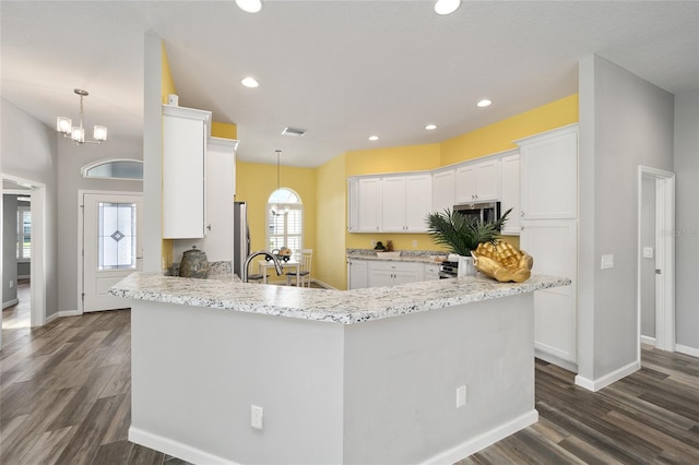
[[[580,61],[579,375],[637,361],[638,166],[673,170],[673,95],[596,56]],[[600,270],[602,254],[614,267]]]

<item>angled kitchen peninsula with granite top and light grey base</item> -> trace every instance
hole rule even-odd
[[[111,289],[132,299],[129,439],[206,464],[453,463],[537,420],[532,293],[569,283],[134,273]]]

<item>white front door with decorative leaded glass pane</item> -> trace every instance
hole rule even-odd
[[[83,311],[127,308],[109,288],[143,262],[142,195],[83,195]]]

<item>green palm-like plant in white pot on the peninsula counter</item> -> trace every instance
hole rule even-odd
[[[481,242],[495,243],[511,211],[512,208],[505,212],[496,222],[470,218],[449,208],[443,212],[433,212],[426,218],[427,231],[435,243],[446,246],[450,252],[460,257],[459,276],[463,274],[475,276],[471,251],[476,250]],[[462,266],[465,270],[464,273],[462,273]]]

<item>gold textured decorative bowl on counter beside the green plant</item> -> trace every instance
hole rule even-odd
[[[471,255],[476,270],[500,283],[522,283],[532,275],[532,255],[503,241],[481,242]]]

